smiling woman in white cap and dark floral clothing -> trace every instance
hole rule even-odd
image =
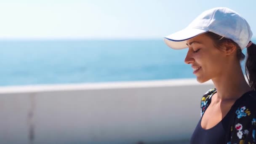
[[[201,100],[201,118],[191,144],[256,144],[256,45],[243,17],[229,8],[212,8],[200,14],[185,29],[168,35],[173,49],[188,47],[199,83],[212,80],[216,88]],[[240,61],[247,48],[246,77]]]

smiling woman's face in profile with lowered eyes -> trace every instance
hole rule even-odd
[[[191,64],[199,83],[221,76],[225,71],[227,56],[213,45],[213,40],[205,34],[187,40],[186,64]],[[195,69],[198,69],[195,71]]]

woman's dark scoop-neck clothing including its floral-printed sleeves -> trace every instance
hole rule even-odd
[[[201,118],[190,138],[190,144],[255,143],[256,91],[244,93],[218,124],[205,130],[201,127],[201,120],[214,93],[216,93],[216,88],[206,92],[201,100]]]

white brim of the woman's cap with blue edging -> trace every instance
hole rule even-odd
[[[197,35],[201,35],[205,32],[208,32],[208,30],[186,28],[164,37],[164,41],[166,45],[168,45],[168,47],[170,48],[183,49],[188,47],[186,44],[187,43],[186,40],[192,37],[195,37]]]

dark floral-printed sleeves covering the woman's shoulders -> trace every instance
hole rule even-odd
[[[216,93],[216,88],[207,91],[201,99],[201,117],[209,106],[211,97]],[[238,99],[233,122],[230,122],[229,133],[226,134],[225,144],[256,144],[256,92],[246,93]]]

